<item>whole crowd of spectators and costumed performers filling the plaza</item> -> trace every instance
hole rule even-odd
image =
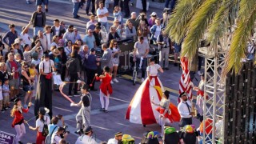
[[[82,6],[81,1],[74,2],[73,16],[79,18],[78,10]],[[90,2],[92,2],[92,14],[89,14]],[[164,33],[166,18],[170,10],[165,10],[161,15],[153,12],[147,19],[146,10],[140,14],[130,13],[128,0],[114,1],[114,23],[109,26],[109,11],[104,6],[106,2],[87,1],[86,14],[90,15],[90,21],[86,23],[86,36],[82,38],[78,29],[70,24],[54,19],[53,26],[46,26],[46,13],[41,4],[45,5],[48,12],[48,1],[37,0],[37,10],[31,15],[30,22],[22,27],[21,34],[15,30],[15,25],[10,24],[8,31],[0,41],[0,110],[6,113],[10,110],[14,117],[12,126],[16,131],[15,143],[22,143],[26,134],[24,124],[28,122],[24,118],[34,102],[34,116],[36,126],[29,126],[30,130],[36,130],[36,143],[66,143],[69,131],[66,130],[62,115],[53,116],[52,91],[58,90],[53,77],[60,76],[63,82],[69,83],[67,96],[81,97],[80,102],[71,102],[70,106],[81,107],[77,116],[77,130],[79,143],[97,143],[90,126],[90,106],[92,96],[90,91],[99,91],[100,111],[108,112],[109,98],[114,88],[111,84],[118,83],[117,73],[120,64],[121,49],[118,42],[130,40],[135,42],[133,53],[130,54],[130,62],[137,64],[142,71],[142,85],[139,87],[126,113],[126,119],[130,122],[144,126],[158,123],[162,126],[161,133],[148,131],[143,135],[141,143],[161,143],[158,137],[165,143],[195,143],[196,138],[202,134],[192,125],[192,104],[182,93],[182,102],[178,107],[169,100],[170,92],[164,90],[162,82],[158,78],[158,71],[169,70],[169,54],[174,49],[174,66],[178,66],[178,53],[181,44],[172,43]],[[142,3],[146,2],[142,0]],[[168,1],[169,2],[169,1]],[[27,1],[30,3],[30,1]],[[125,15],[122,16],[124,9]],[[130,16],[130,18],[128,18]],[[98,21],[95,20],[98,18]],[[127,18],[125,21],[124,18]],[[33,37],[30,37],[29,29],[33,26]],[[102,33],[107,33],[106,41]],[[150,45],[158,47],[159,64],[155,58],[148,58]],[[102,49],[102,57],[96,56],[98,47]],[[7,52],[4,53],[4,49]],[[148,62],[149,61],[149,62]],[[147,66],[149,63],[149,66]],[[147,77],[146,77],[147,75]],[[204,79],[204,78],[202,78]],[[99,90],[94,86],[95,81],[101,81]],[[195,87],[198,91],[198,106],[202,110],[203,82]],[[22,87],[22,89],[20,89]],[[22,99],[22,94],[25,94]],[[155,97],[155,98],[154,98]],[[141,109],[144,107],[143,109]],[[25,114],[26,115],[26,114]],[[202,111],[198,113],[202,122]],[[58,126],[62,121],[62,126]],[[182,128],[179,132],[174,127],[166,126],[166,122],[180,122]],[[200,131],[200,132],[198,132]],[[174,142],[175,141],[175,142]],[[201,140],[202,142],[202,140]],[[102,142],[104,143],[104,142]],[[134,138],[129,134],[118,132],[114,134],[108,144],[134,143]]]

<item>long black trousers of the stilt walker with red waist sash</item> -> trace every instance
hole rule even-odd
[[[52,79],[47,79],[45,75],[40,74],[38,78],[38,93],[34,101],[34,115],[38,119],[38,110],[40,107],[46,107],[50,110],[50,119],[53,116],[52,111]]]

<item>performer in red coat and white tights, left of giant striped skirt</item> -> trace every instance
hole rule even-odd
[[[103,68],[103,74],[100,76],[98,76],[98,74],[95,74],[95,77],[96,77],[96,80],[99,80],[99,79],[102,80],[102,84],[101,86],[99,86],[99,89],[100,89],[99,97],[102,105],[100,111],[104,111],[105,113],[107,113],[107,109],[110,104],[110,94],[113,93],[112,86],[110,83],[112,79],[112,75],[110,74],[110,67],[105,66]],[[106,101],[105,106],[104,106],[104,98]]]

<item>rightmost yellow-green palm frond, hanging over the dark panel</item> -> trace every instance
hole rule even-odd
[[[254,2],[253,7],[254,10],[251,10],[246,16],[239,15],[239,18],[242,18],[243,20],[238,21],[238,29],[234,30],[234,37],[231,40],[230,50],[226,55],[224,74],[230,70],[234,70],[235,74],[239,74],[239,71],[242,68],[241,58],[246,57],[246,43],[251,37],[254,22],[256,21],[256,2]],[[245,10],[245,8],[241,8],[240,10]],[[239,12],[239,14],[244,13]]]

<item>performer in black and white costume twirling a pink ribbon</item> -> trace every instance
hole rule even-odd
[[[81,109],[76,116],[77,128],[81,131],[83,128],[90,126],[90,103],[92,98],[88,90],[89,86],[83,84],[81,88],[82,96],[80,102],[70,104],[70,106],[81,106]]]

